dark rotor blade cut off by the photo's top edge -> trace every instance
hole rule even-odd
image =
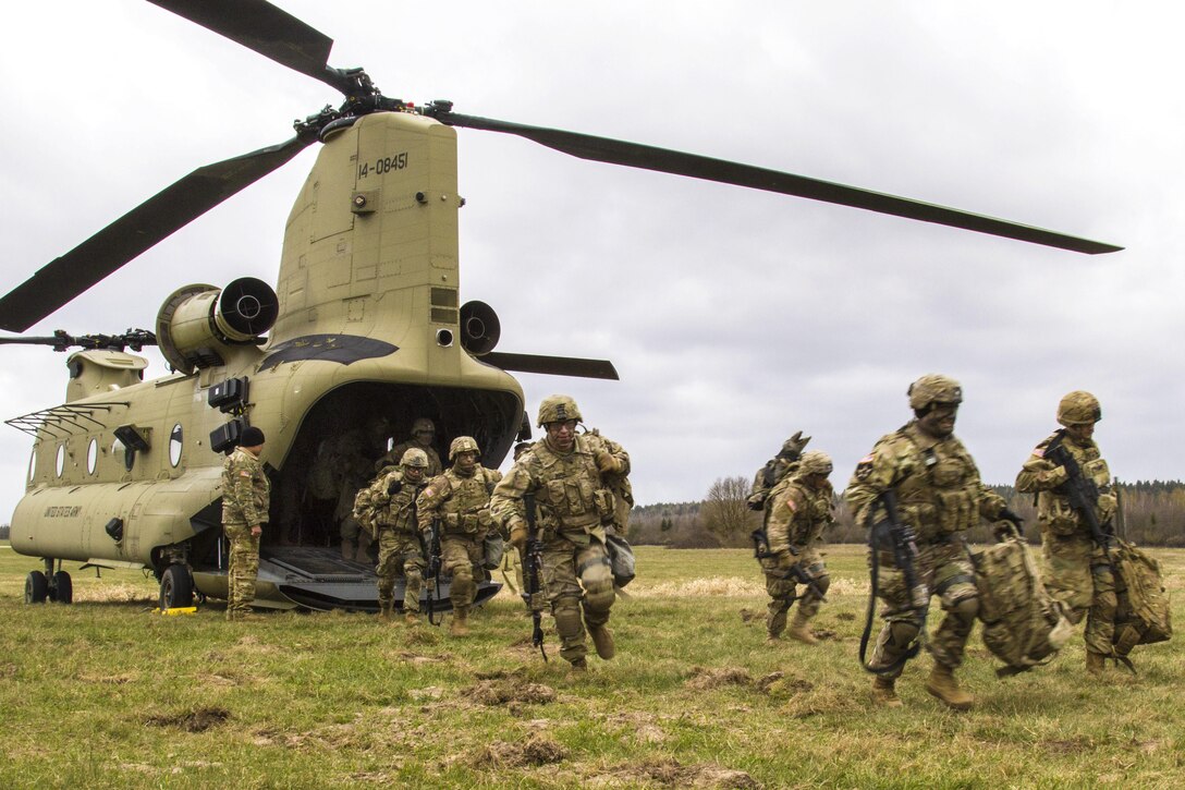
[[[255,50],[281,65],[347,93],[328,68],[333,39],[265,0],[148,0],[178,17]]]

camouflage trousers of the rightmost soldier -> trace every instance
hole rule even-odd
[[[1119,599],[1115,574],[1103,550],[1089,535],[1059,536],[1043,530],[1040,553],[1045,590],[1062,603],[1075,625],[1087,617],[1087,650],[1112,655]]]

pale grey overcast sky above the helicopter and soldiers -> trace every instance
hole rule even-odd
[[[1179,478],[1183,184],[1177,4],[282,0],[387,96],[734,159],[1127,248],[1085,256],[460,129],[462,300],[501,351],[609,358],[574,395],[629,450],[640,503],[751,476],[801,428],[856,461],[925,372],[1012,483],[1089,389],[1127,480]],[[141,0],[4,12],[0,293],[194,167],[340,98]],[[31,330],[152,329],[190,282],[274,282],[315,151]],[[0,349],[0,416],[59,403],[65,355]],[[149,355],[149,375],[165,375]],[[31,440],[0,426],[0,522]]]

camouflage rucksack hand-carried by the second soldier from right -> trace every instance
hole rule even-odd
[[[1029,546],[1013,533],[978,554],[975,566],[984,644],[1006,667],[998,677],[1046,663],[1070,638],[1074,626],[1045,590]]]

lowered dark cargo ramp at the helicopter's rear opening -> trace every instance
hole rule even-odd
[[[198,590],[217,598],[226,595],[225,571],[203,573],[197,568],[193,579]],[[451,611],[449,579],[438,585],[427,579],[419,595],[419,611],[428,611],[428,587],[433,591],[433,612]],[[498,594],[501,584],[482,581],[478,585],[474,605],[480,606]],[[395,605],[403,607],[403,584],[395,586]],[[256,579],[256,606],[269,609],[334,609],[356,612],[378,611],[378,576],[371,565],[346,560],[337,548],[312,546],[264,546],[260,550],[260,573]]]

